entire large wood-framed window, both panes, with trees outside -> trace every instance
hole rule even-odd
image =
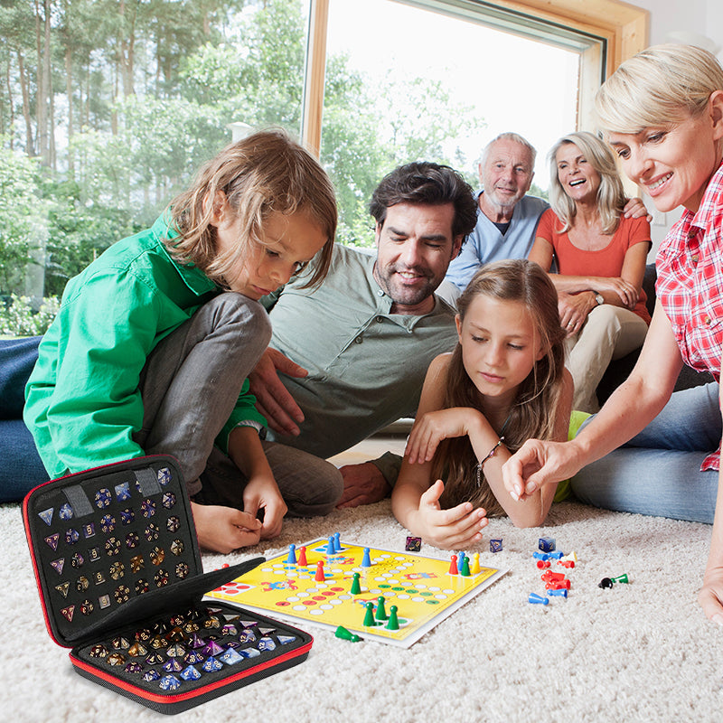
[[[368,242],[380,174],[426,157],[473,180],[508,128],[544,151],[585,127],[591,89],[643,47],[644,22],[615,0],[0,2],[0,333],[42,331],[11,328],[4,306],[20,319],[15,296],[36,309],[60,295],[253,127],[320,149],[340,239]]]

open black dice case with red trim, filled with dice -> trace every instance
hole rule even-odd
[[[81,675],[176,713],[305,660],[311,635],[203,595],[263,558],[203,574],[183,475],[157,455],[70,474],[23,502],[53,640]]]

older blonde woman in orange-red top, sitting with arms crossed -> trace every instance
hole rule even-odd
[[[559,274],[573,408],[595,412],[596,387],[611,360],[643,344],[650,324],[642,290],[650,224],[624,217],[615,158],[590,133],[564,136],[549,151],[551,209],[540,218],[530,259]]]

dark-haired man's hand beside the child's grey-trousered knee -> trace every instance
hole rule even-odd
[[[249,389],[256,397],[256,408],[266,417],[268,427],[280,435],[297,437],[301,431],[297,425],[304,421],[304,412],[278,378],[278,371],[298,378],[309,373],[269,347],[249,374]]]

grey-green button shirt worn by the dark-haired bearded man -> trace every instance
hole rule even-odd
[[[455,311],[436,296],[427,315],[391,314],[392,299],[372,274],[375,261],[337,244],[317,290],[301,288],[300,278],[275,303],[263,300],[274,304],[270,346],[309,372],[282,376],[304,412],[301,434],[269,430],[269,439],[328,457],[416,414],[429,362],[455,348]]]

